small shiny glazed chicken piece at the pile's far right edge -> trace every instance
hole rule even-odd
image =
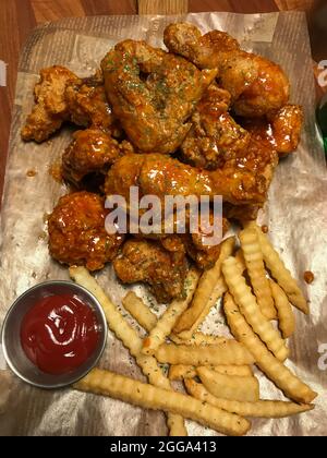
[[[286,105],[268,117],[240,122],[257,141],[276,149],[279,156],[287,156],[299,145],[303,110],[300,105]]]

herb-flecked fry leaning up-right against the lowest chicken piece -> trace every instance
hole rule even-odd
[[[143,340],[142,352],[144,354],[154,354],[161,343],[165,342],[171,329],[175,325],[178,318],[186,310],[192,301],[193,294],[196,290],[199,275],[195,269],[191,269],[185,279],[185,288],[187,289],[186,298],[180,301],[172,301],[167,308],[162,316],[157,321],[155,327],[149,332],[149,335]]]

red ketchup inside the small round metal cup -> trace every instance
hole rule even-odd
[[[94,352],[99,326],[94,311],[76,296],[48,296],[24,316],[21,342],[26,357],[48,374],[65,374]]]

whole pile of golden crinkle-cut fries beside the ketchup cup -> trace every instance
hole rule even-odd
[[[186,299],[173,301],[159,318],[134,292],[125,296],[123,306],[147,332],[144,339],[84,267],[71,267],[71,277],[98,299],[110,329],[148,379],[142,383],[94,369],[75,388],[164,410],[173,436],[187,434],[184,419],[222,434],[244,435],[251,427],[245,417],[282,418],[313,409],[311,402],[316,393],[283,363],[289,354],[286,339],[295,328],[292,305],[308,313],[307,303],[254,222],[245,226],[239,239],[241,249],[235,255],[232,237],[222,242],[211,269],[201,277],[191,269],[185,282]],[[234,338],[198,330],[222,297],[227,324]],[[272,320],[277,320],[278,328]],[[170,364],[168,376],[159,363]],[[290,401],[261,399],[252,364]],[[187,395],[175,391],[172,381],[183,381]]]

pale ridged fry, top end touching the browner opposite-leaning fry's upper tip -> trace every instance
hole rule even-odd
[[[240,274],[234,257],[229,257],[222,263],[222,272],[229,290],[247,323],[276,358],[284,361],[289,354],[288,348],[278,330],[274,328],[271,323],[258,309],[255,297],[252,294],[251,288],[246,285],[245,278]]]

